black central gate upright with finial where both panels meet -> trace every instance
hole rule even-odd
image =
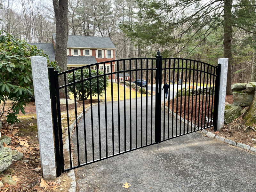
[[[161,142],[161,95],[162,95],[162,58],[160,51],[156,55],[156,143]]]

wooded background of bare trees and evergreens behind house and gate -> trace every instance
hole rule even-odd
[[[229,31],[230,84],[251,81],[254,0],[69,0],[68,6],[69,35],[110,37],[116,59],[155,57],[159,49],[165,58],[217,65]],[[0,28],[27,42],[52,43],[52,1],[0,0]]]

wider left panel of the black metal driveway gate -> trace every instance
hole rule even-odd
[[[112,66],[115,66],[116,71],[112,70]],[[57,106],[59,114],[62,114],[58,118],[59,126],[62,123],[69,127],[73,121],[75,124],[74,133],[68,129],[69,149],[68,155],[64,153],[64,171],[156,144],[156,100],[153,93],[155,66],[155,58],[123,59],[70,69],[57,74],[59,79],[64,80],[64,84],[57,86],[56,92],[64,92],[66,95],[65,112],[63,110],[60,112],[63,106]],[[137,80],[134,79],[135,84],[128,87],[132,84],[132,79],[129,78],[127,81],[129,84],[126,83],[125,88],[121,78],[125,80],[127,73],[135,76]],[[111,78],[112,75],[116,78]],[[143,90],[139,90],[139,85],[143,83],[139,79],[143,77],[147,78],[144,89],[151,94],[144,94]],[[75,103],[71,108],[68,105],[68,90],[74,93],[71,97],[74,97]],[[89,101],[90,109],[87,109],[89,111],[86,113],[88,100],[85,98],[88,93],[88,99],[92,98],[92,100]],[[57,94],[56,96],[60,102]],[[80,113],[83,117],[78,121]],[[64,144],[60,139],[60,146]],[[75,165],[71,162],[73,150],[76,156]]]

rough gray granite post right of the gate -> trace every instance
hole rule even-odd
[[[226,87],[227,87],[227,75],[228,75],[228,58],[221,58],[218,60],[221,64],[220,69],[220,94],[219,94],[219,110],[217,117],[217,131],[224,126],[224,112],[225,112],[225,100],[226,100]]]

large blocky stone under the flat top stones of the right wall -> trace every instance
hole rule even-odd
[[[233,101],[235,105],[250,106],[254,97],[254,92],[233,91]]]

